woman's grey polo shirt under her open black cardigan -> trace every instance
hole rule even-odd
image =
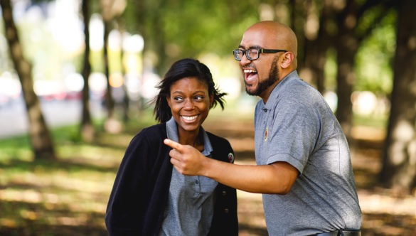
[[[172,117],[166,122],[169,139],[178,141],[178,129]],[[204,137],[205,156],[213,147],[201,127]],[[183,176],[174,168],[169,188],[168,205],[160,235],[208,235],[213,217],[214,190],[218,182],[203,176]]]

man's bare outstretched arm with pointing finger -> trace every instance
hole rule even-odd
[[[207,158],[192,146],[170,139],[165,139],[164,144],[172,148],[171,163],[179,173],[206,176],[242,191],[286,194],[298,176],[297,169],[284,161],[265,166],[237,165]]]

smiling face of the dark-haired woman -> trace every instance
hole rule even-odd
[[[196,77],[184,77],[174,82],[170,97],[166,99],[178,124],[179,134],[198,132],[213,102],[208,86]]]

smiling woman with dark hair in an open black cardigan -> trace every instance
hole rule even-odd
[[[203,176],[183,176],[170,163],[169,138],[220,161],[234,161],[230,143],[201,124],[223,96],[198,60],[174,63],[159,83],[159,124],[130,142],[114,181],[105,222],[110,235],[238,235],[237,195]]]

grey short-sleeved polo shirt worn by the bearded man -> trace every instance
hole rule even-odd
[[[361,227],[346,137],[324,97],[296,71],[257,103],[255,157],[257,165],[285,161],[299,171],[287,195],[263,194],[269,235]]]

